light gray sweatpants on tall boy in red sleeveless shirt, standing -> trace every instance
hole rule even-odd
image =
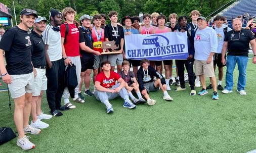
[[[80,61],[80,56],[77,57],[68,57],[72,63],[75,65],[75,71],[76,71],[76,77],[77,77],[77,86],[75,87],[75,98],[78,97],[78,93],[79,93],[79,83],[80,83],[80,75],[81,75],[81,61]],[[64,92],[62,97],[64,99],[69,98],[69,91],[68,88],[65,87]]]

